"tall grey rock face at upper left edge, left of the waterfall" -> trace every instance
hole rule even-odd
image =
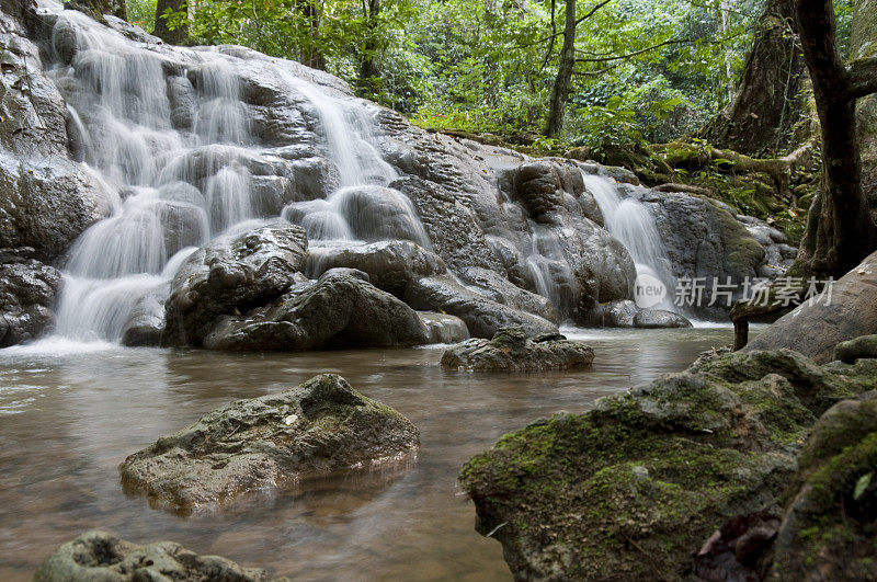
[[[67,110],[45,75],[22,24],[0,13],[8,47],[0,78],[0,248],[31,247],[49,261],[90,225],[107,216],[111,201],[70,159]]]

